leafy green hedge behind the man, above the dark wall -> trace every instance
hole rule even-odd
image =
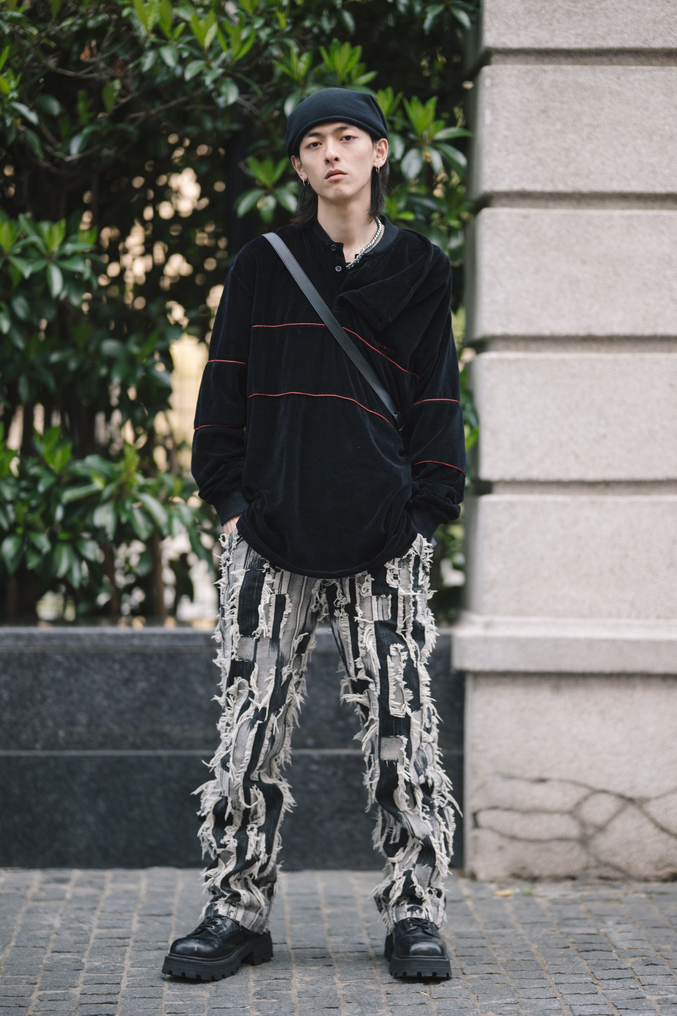
[[[465,0],[6,0],[2,618],[35,616],[49,591],[77,617],[161,617],[191,593],[183,555],[166,602],[161,539],[187,531],[212,560],[218,520],[191,499],[189,449],[156,426],[170,350],[182,334],[208,339],[229,261],[295,210],[284,130],[306,94],[341,85],[378,99],[387,214],[447,252],[458,309],[473,212],[461,53],[475,16]],[[463,397],[470,445],[465,384]],[[458,527],[439,535],[462,566]],[[454,595],[439,593],[442,614]]]

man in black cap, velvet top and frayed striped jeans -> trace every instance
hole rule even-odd
[[[293,804],[280,768],[328,619],[377,805],[386,865],[373,895],[390,971],[446,977],[438,926],[458,806],[425,663],[432,537],[459,516],[466,468],[451,269],[426,237],[383,214],[388,125],[370,96],[310,96],[286,147],[299,209],[276,232],[405,424],[397,430],[268,241],[245,244],[214,321],[192,460],[224,526],[220,744],[213,778],[194,791],[210,900],[162,970],[208,980],[272,957],[280,824]]]

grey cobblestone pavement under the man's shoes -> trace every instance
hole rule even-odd
[[[0,872],[0,1016],[677,1014],[677,883],[449,882],[453,976],[394,980],[376,872],[283,873],[275,956],[209,985],[165,978],[198,870]]]

